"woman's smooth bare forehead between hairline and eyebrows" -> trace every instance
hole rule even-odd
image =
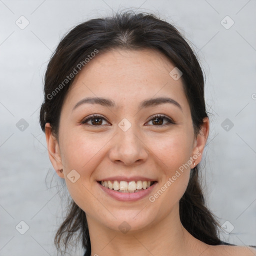
[[[164,54],[152,49],[99,52],[76,75],[66,100],[77,101],[85,96],[109,97],[123,106],[130,99],[143,100],[168,94],[181,101],[184,107],[186,97],[182,78],[174,80],[169,75],[174,67]]]

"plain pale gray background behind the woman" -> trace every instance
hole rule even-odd
[[[55,184],[60,180],[38,123],[52,51],[79,22],[130,7],[159,13],[197,52],[212,113],[203,170],[207,205],[220,224],[229,221],[225,230],[233,228],[221,234],[225,241],[256,245],[255,0],[0,0],[1,256],[56,255],[53,235],[63,216]],[[24,29],[21,15],[29,21]],[[234,21],[228,29],[222,25],[231,24],[226,15]],[[21,118],[28,123],[23,130],[16,126]],[[23,235],[15,229],[21,220],[29,226]],[[78,246],[71,254],[82,250]]]

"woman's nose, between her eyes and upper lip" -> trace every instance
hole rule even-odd
[[[146,161],[148,150],[139,136],[139,133],[131,127],[123,131],[118,127],[117,134],[113,137],[109,158],[112,162],[124,165],[138,165]]]

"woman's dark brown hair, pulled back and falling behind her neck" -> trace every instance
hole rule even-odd
[[[75,73],[74,70],[79,72],[79,63],[83,63],[82,66],[86,68],[85,58],[91,56],[92,52],[101,53],[114,48],[158,50],[182,71],[184,91],[197,134],[207,113],[203,73],[193,50],[170,23],[153,14],[131,11],[80,23],[61,39],[45,72],[44,101],[40,109],[42,130],[45,123],[49,122],[57,137],[62,102],[73,81],[69,74]],[[179,201],[179,207],[181,223],[190,234],[207,244],[220,244],[219,224],[205,206],[198,166],[190,171],[188,186]],[[67,216],[55,235],[57,249],[61,249],[63,241],[66,250],[68,241],[77,231],[83,248],[90,253],[85,212],[71,200]]]

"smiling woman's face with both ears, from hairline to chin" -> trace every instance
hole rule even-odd
[[[178,207],[194,166],[191,157],[195,164],[201,159],[208,120],[195,137],[182,76],[169,74],[174,67],[153,50],[98,54],[64,99],[58,142],[46,125],[52,164],[56,171],[63,168],[57,173],[87,219],[114,230],[129,225],[132,231],[146,229]],[[85,102],[88,98],[94,99]],[[118,192],[100,181],[133,192]],[[143,189],[140,181],[155,182]]]

